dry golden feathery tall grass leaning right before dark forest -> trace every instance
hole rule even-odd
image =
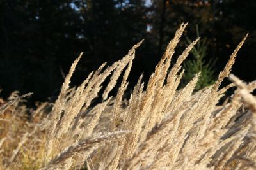
[[[213,85],[193,92],[197,73],[177,89],[182,62],[199,41],[170,66],[186,25],[175,33],[147,85],[141,75],[128,99],[127,78],[142,41],[121,60],[102,64],[81,85],[70,87],[81,53],[55,103],[26,108],[24,99],[31,94],[13,92],[0,107],[0,168],[255,169],[256,98],[251,92],[256,81],[247,84],[230,74],[246,37]],[[220,88],[227,77],[232,83]],[[117,94],[109,96],[119,78]],[[234,86],[234,94],[218,104]],[[92,104],[95,99],[100,102]]]

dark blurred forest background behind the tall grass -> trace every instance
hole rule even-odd
[[[182,22],[189,25],[175,57],[202,37],[184,63],[182,83],[202,71],[197,88],[211,84],[247,32],[232,73],[253,81],[255,9],[255,0],[1,0],[1,96],[19,90],[34,92],[33,101],[51,100],[80,52],[84,55],[72,85],[103,62],[121,59],[141,39],[145,41],[136,52],[129,81],[132,87],[141,73],[147,81]]]

